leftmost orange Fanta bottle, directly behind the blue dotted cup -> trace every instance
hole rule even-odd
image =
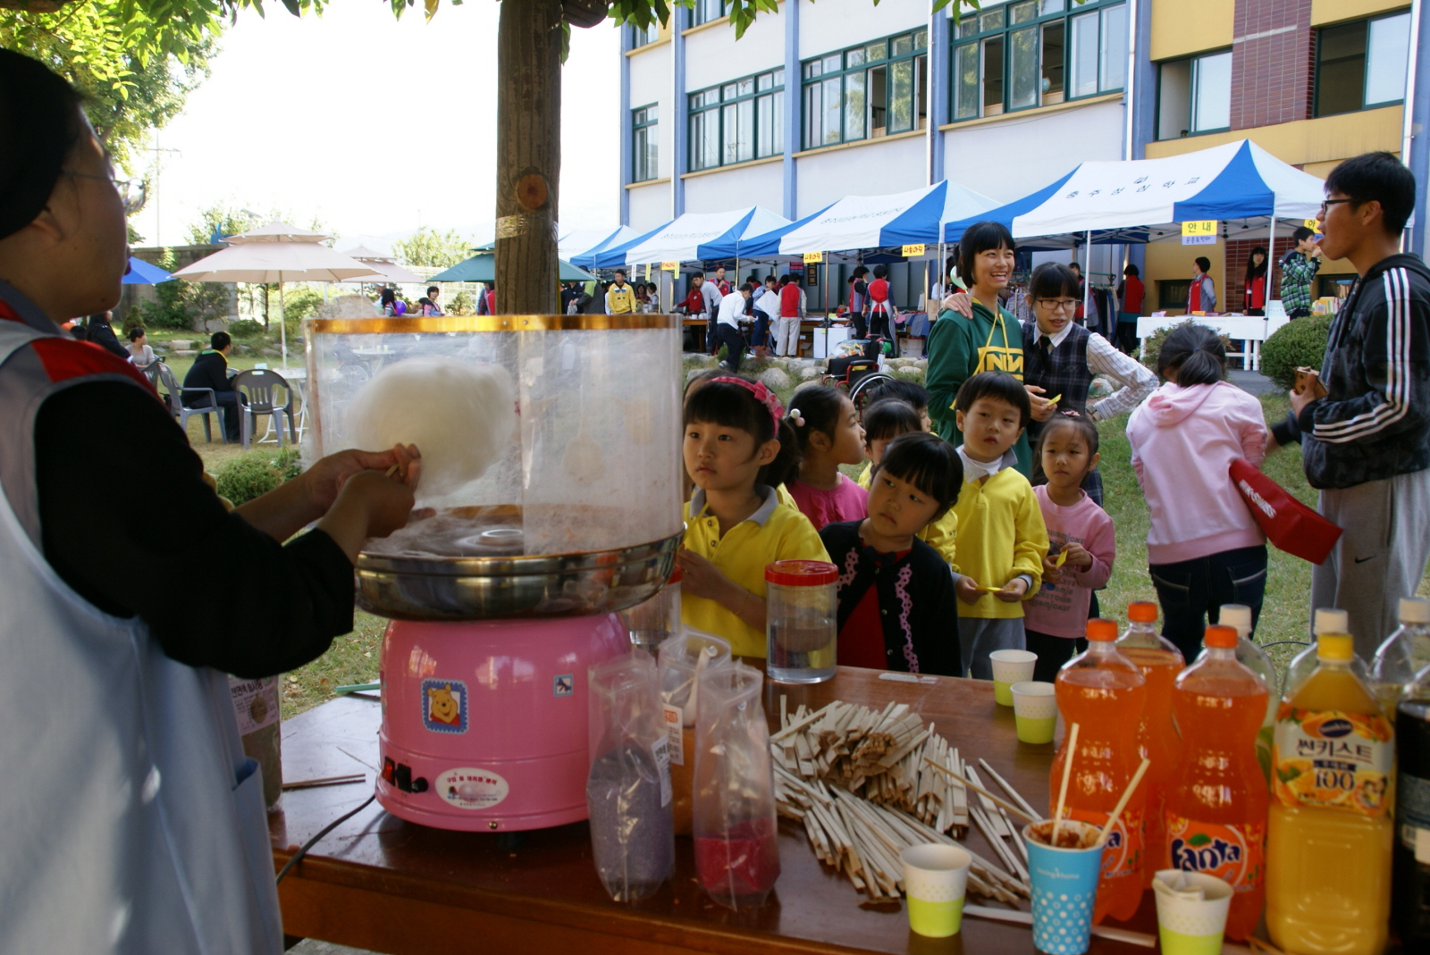
[[[1062,665],[1057,678],[1058,712],[1071,732],[1078,723],[1077,752],[1070,753],[1067,736],[1052,759],[1051,806],[1057,811],[1062,762],[1072,759],[1062,816],[1101,826],[1141,765],[1137,752],[1137,723],[1147,702],[1147,681],[1130,659],[1117,650],[1117,623],[1087,622],[1087,652]],[[1093,921],[1111,915],[1130,919],[1143,901],[1143,819],[1147,788],[1133,791],[1127,808],[1108,833],[1103,849],[1103,875],[1097,884]]]

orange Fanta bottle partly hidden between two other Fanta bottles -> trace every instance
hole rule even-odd
[[[1157,632],[1157,605],[1135,600],[1127,605],[1127,632],[1117,639],[1117,652],[1137,663],[1147,681],[1147,706],[1137,723],[1137,751],[1151,759],[1141,788],[1147,791],[1147,816],[1143,848],[1148,862],[1161,864],[1167,856],[1167,831],[1163,808],[1167,786],[1181,761],[1181,736],[1171,721],[1171,686],[1187,666],[1177,645]],[[1143,888],[1153,885],[1157,865],[1143,866]]]

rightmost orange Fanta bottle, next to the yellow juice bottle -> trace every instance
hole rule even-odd
[[[1214,875],[1236,889],[1227,935],[1240,941],[1256,929],[1266,898],[1268,796],[1256,738],[1268,693],[1266,682],[1237,662],[1233,628],[1208,626],[1203,642],[1207,652],[1173,691],[1184,749],[1177,782],[1167,791],[1163,858],[1168,868]]]

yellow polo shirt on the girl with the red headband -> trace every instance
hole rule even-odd
[[[779,506],[779,495],[762,488],[759,510],[719,536],[719,520],[705,509],[699,488],[685,505],[684,545],[714,563],[721,573],[755,596],[765,596],[765,566],[775,560],[829,560],[818,532],[795,508]],[[692,516],[694,515],[694,516]],[[686,626],[729,640],[735,656],[765,656],[765,633],[709,598],[681,595],[681,619]]]

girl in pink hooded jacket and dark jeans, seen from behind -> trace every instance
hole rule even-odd
[[[1163,636],[1183,656],[1201,652],[1223,603],[1251,608],[1266,595],[1266,535],[1227,475],[1237,457],[1260,466],[1261,402],[1221,380],[1227,352],[1216,332],[1184,325],[1167,336],[1157,373],[1167,383],[1133,412],[1127,440],[1147,498],[1147,562],[1163,608]]]

